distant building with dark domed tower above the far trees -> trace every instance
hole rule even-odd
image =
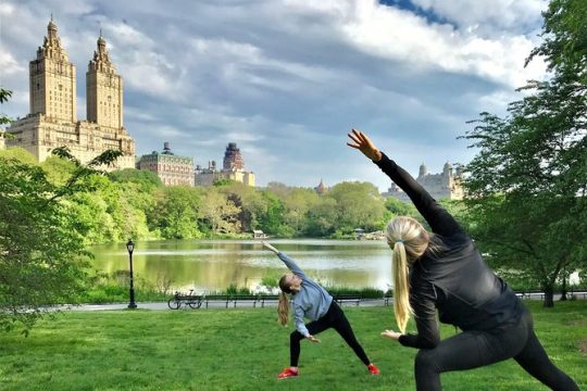
[[[236,142],[229,142],[224,152],[223,169],[216,169],[216,162],[208,162],[208,168],[196,166],[196,186],[212,186],[215,180],[230,179],[254,187],[254,173],[245,171],[245,162]]]

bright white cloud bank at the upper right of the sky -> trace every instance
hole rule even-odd
[[[544,74],[539,64],[523,67],[534,47],[526,36],[485,38],[448,24],[429,24],[408,11],[371,1],[360,4],[355,18],[344,26],[359,50],[415,67],[478,75],[512,87]]]

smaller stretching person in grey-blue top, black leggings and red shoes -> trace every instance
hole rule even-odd
[[[279,252],[267,242],[263,245],[273,251],[292,272],[284,275],[279,279],[279,304],[277,313],[279,323],[286,325],[289,318],[289,300],[286,293],[291,294],[291,302],[295,311],[296,330],[289,336],[289,367],[285,368],[277,377],[279,379],[298,376],[298,361],[300,358],[300,341],[304,338],[312,342],[320,342],[314,336],[326,329],[334,328],[340,337],[352,348],[357,356],[366,365],[369,371],[373,375],[379,375],[379,369],[373,365],[363,348],[354,338],[352,328],[345,313],[333,297],[324,288],[319,286],[289,256]],[[308,325],[304,325],[303,318],[309,318]]]

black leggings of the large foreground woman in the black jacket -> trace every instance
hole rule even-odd
[[[578,391],[577,384],[548,358],[534,332],[532,315],[524,308],[516,325],[490,331],[464,331],[421,350],[415,358],[417,390],[440,390],[440,374],[514,358],[528,374],[552,390]]]

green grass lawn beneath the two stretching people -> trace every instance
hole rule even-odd
[[[527,305],[550,357],[587,389],[587,301]],[[416,351],[379,336],[397,329],[391,307],[344,310],[382,376],[369,375],[328,330],[320,344],[302,341],[299,378],[277,380],[292,326],[280,327],[275,308],[67,312],[42,320],[28,338],[0,333],[0,390],[414,390]],[[442,384],[547,389],[512,360],[446,374]]]

